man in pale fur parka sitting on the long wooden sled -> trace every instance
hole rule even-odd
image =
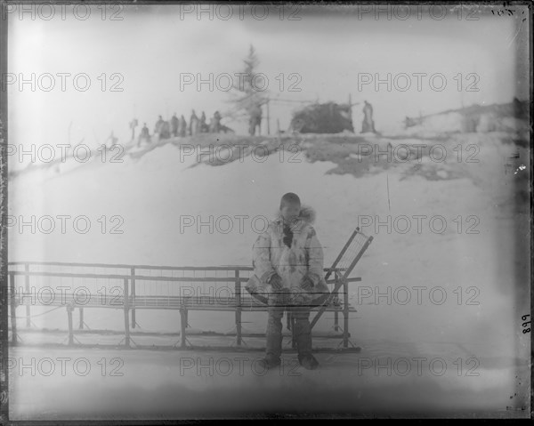
[[[284,310],[295,318],[295,340],[299,363],[319,366],[312,355],[310,309],[328,298],[324,280],[323,251],[312,223],[315,212],[302,206],[289,192],[280,201],[279,213],[260,235],[253,248],[254,275],[247,291],[268,304],[267,344],[263,366],[279,366],[282,352]]]

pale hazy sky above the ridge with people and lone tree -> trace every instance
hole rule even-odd
[[[522,21],[528,13],[519,7],[512,16],[498,16],[489,8],[470,12],[464,6],[460,14],[414,5],[405,20],[406,9],[374,5],[286,5],[283,19],[272,7],[263,20],[263,6],[235,5],[227,20],[230,9],[215,4],[34,7],[34,15],[17,6],[8,13],[4,82],[15,145],[97,146],[111,131],[124,143],[134,117],[139,133],[145,122],[152,132],[158,115],[168,119],[176,112],[189,120],[191,109],[224,115],[232,97],[223,75],[238,81],[234,73],[243,70],[250,44],[275,99],[271,133],[277,121],[287,129],[292,112],[303,106],[298,100],[342,103],[350,94],[357,132],[363,100],[374,107],[376,129],[394,132],[406,116],[529,93],[528,21]],[[32,73],[35,86],[20,85]],[[70,74],[64,89],[61,73]],[[210,76],[211,87],[196,84]],[[192,83],[184,84],[188,78]],[[246,132],[246,123],[225,118],[223,124]]]

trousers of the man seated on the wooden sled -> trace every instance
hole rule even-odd
[[[287,303],[287,294],[271,294],[269,297],[267,320],[267,344],[265,355],[271,361],[278,361],[282,354],[282,317],[284,310],[291,311],[295,318],[295,340],[298,359],[312,355],[312,329],[310,327],[310,308]]]

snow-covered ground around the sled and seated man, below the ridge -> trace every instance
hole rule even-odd
[[[367,167],[358,178],[328,173],[336,163],[311,163],[303,150],[293,157],[275,153],[210,166],[198,165],[194,154],[174,144],[123,163],[99,160],[20,174],[10,181],[9,214],[25,221],[32,215],[85,215],[91,228],[81,233],[82,222],[75,229],[67,221],[61,233],[59,220],[48,234],[38,226],[34,232],[12,226],[10,261],[249,265],[264,218],[276,213],[279,197],[289,191],[317,210],[325,266],[356,226],[374,241],[354,271],[362,281],[351,294],[358,309],[351,319],[352,342],[362,348],[360,354],[319,354],[324,368],[296,368],[293,376],[253,371],[249,366],[259,352],[243,355],[240,374],[237,352],[20,346],[12,349],[12,358],[38,363],[46,357],[86,357],[98,373],[32,376],[13,367],[12,418],[240,416],[289,412],[290,406],[295,413],[528,414],[530,334],[522,334],[521,316],[530,312],[530,216],[515,182],[530,165],[528,149],[518,151],[504,141],[506,135],[458,134],[444,145],[445,161],[425,157],[418,166],[414,161],[384,168],[380,161],[360,164],[360,157],[350,157],[354,167]],[[387,141],[373,137],[369,143]],[[461,160],[454,150],[458,144]],[[466,162],[473,153],[479,161]],[[430,169],[435,180],[422,173]],[[204,226],[197,228],[199,223]],[[123,233],[111,233],[113,227]],[[86,310],[85,320],[93,328],[121,329],[120,310],[92,312]],[[143,311],[138,322],[147,330],[175,331],[178,317]],[[233,326],[231,314],[194,313],[190,319],[192,326],[209,330]],[[262,331],[265,319],[250,315],[247,328]],[[62,310],[38,318],[41,327],[65,325]],[[40,342],[45,339],[43,334]],[[221,370],[224,357],[231,358],[231,374]],[[104,364],[121,358],[125,374],[101,374],[101,358]],[[288,363],[293,358],[287,354]],[[388,358],[392,372],[376,373],[376,365]],[[407,374],[394,365],[401,358],[410,360]],[[423,364],[418,374],[414,358],[446,360],[446,372],[436,374]],[[214,372],[198,372],[209,359],[219,360]]]

